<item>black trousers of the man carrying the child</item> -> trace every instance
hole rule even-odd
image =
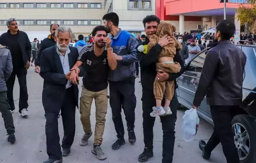
[[[164,105],[164,100],[163,104]],[[156,106],[153,90],[143,90],[142,109],[143,109],[143,135],[145,147],[153,150],[153,127],[155,117],[150,116],[152,107]],[[178,99],[176,91],[172,98],[170,108],[172,115],[160,116],[163,130],[163,159],[162,163],[172,163],[173,150],[175,144],[175,122],[177,120]]]

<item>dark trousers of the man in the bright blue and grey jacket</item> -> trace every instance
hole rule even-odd
[[[135,122],[135,78],[131,77],[121,82],[109,82],[110,106],[112,110],[112,119],[115,125],[117,138],[123,139],[125,130],[122,122],[121,111],[124,110],[127,129],[134,129]]]

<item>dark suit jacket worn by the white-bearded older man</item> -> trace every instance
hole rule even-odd
[[[70,69],[75,65],[79,56],[77,48],[69,47],[68,54]],[[44,110],[59,113],[66,92],[67,79],[65,77],[61,60],[57,53],[57,46],[47,48],[42,52],[40,76],[44,79],[42,102]],[[78,86],[72,84],[76,106],[78,107]]]

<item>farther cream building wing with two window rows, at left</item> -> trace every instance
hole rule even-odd
[[[0,13],[0,34],[7,31],[6,20],[13,17],[32,41],[47,37],[52,23],[69,26],[76,39],[79,34],[87,37],[96,25],[102,25],[105,9],[104,0],[1,0]]]

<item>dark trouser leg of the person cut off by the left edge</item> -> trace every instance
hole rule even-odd
[[[13,124],[12,113],[10,112],[10,105],[8,104],[6,91],[0,92],[0,112],[2,113],[7,134],[14,134],[15,127]]]

